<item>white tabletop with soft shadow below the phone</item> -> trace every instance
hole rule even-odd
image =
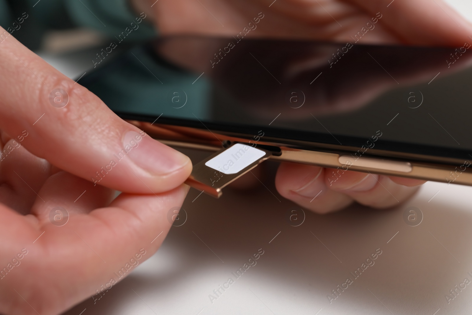
[[[430,182],[394,210],[305,211],[304,220],[262,185],[192,202],[198,194],[190,191],[186,223],[171,229],[156,255],[95,305],[89,298],[67,315],[85,308],[87,315],[471,314],[471,286],[450,304],[445,295],[472,279],[472,187]],[[403,219],[410,206],[424,215],[416,227]],[[289,220],[292,210],[298,221]],[[260,248],[257,264],[211,303],[213,290]],[[378,248],[375,264],[330,304],[331,290]]]

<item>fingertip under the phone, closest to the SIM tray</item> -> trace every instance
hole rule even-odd
[[[325,170],[319,166],[280,163],[275,186],[283,197],[317,213],[336,211],[354,201],[329,189],[325,184]]]

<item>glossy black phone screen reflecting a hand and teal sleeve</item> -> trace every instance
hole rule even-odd
[[[469,49],[176,37],[136,47],[83,85],[113,111],[161,123],[177,118],[358,147],[380,133],[378,148],[406,143],[395,150],[424,153],[430,145],[464,156],[472,151],[471,56]]]

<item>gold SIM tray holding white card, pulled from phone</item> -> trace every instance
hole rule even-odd
[[[194,165],[185,184],[219,198],[221,189],[270,158],[272,153],[236,143]]]

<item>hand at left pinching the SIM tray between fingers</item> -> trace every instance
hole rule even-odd
[[[159,248],[192,164],[4,32],[0,313],[53,315]]]

